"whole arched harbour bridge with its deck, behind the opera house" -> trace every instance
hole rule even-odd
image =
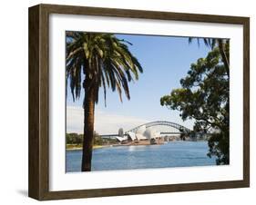
[[[138,132],[139,129],[145,127],[146,129],[153,129],[155,132],[159,132],[161,136],[167,135],[186,135],[189,138],[195,138],[191,135],[191,130],[183,125],[180,125],[176,122],[168,121],[156,121],[140,124],[137,127],[134,127],[128,131],[123,131],[119,129],[118,133],[108,133],[100,135],[101,138],[116,138],[128,135],[129,132]]]

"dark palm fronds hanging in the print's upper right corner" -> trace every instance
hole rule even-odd
[[[195,37],[189,37],[189,44],[192,43]],[[220,55],[222,62],[225,66],[226,73],[228,76],[230,76],[230,55],[227,50],[230,46],[230,40],[229,39],[223,39],[223,38],[200,38],[196,37],[198,44],[200,44],[200,40],[203,41],[203,43],[207,46],[209,46],[211,49],[213,49],[215,46],[219,47]]]

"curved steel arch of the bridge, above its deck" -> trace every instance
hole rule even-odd
[[[154,126],[158,126],[158,125],[165,125],[165,126],[169,126],[169,127],[173,127],[177,130],[179,130],[179,132],[183,132],[183,133],[189,133],[191,132],[191,130],[183,125],[180,125],[178,123],[175,122],[168,122],[168,121],[155,121],[155,122],[148,122],[148,123],[144,123],[144,124],[140,124],[139,126],[127,131],[128,132],[137,132],[138,128],[141,126],[146,126],[146,128],[148,127],[154,127]]]

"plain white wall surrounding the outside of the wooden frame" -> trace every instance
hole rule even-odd
[[[253,1],[223,0],[44,0],[46,4],[90,5],[131,9],[159,10],[211,15],[251,16],[251,56],[256,52],[256,14]],[[38,204],[27,194],[27,7],[42,1],[8,0],[0,7],[1,14],[1,101],[0,119],[2,142],[0,149],[1,204]],[[251,57],[251,90],[256,87],[256,60]],[[251,188],[233,190],[205,190],[179,193],[151,194],[126,197],[108,197],[87,200],[57,200],[44,204],[250,204],[256,192],[256,94],[251,92]]]

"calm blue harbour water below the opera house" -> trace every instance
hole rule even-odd
[[[215,165],[207,142],[169,142],[151,146],[119,146],[93,151],[92,171]],[[82,151],[67,151],[67,172],[80,171]]]

